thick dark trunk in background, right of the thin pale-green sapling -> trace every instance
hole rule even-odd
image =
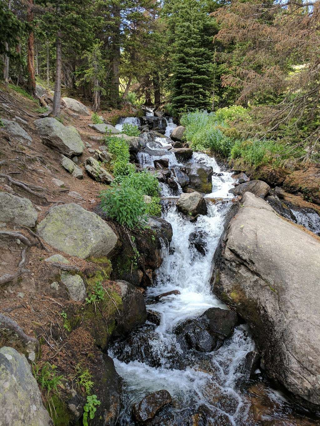
[[[119,103],[119,80],[120,80],[120,7],[113,5],[114,32],[112,35],[112,76],[111,76],[111,104],[117,106]]]

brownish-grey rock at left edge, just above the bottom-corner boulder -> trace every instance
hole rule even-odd
[[[39,342],[27,336],[23,329],[11,318],[0,314],[0,347],[10,346],[26,356],[30,363],[35,362],[39,354]]]

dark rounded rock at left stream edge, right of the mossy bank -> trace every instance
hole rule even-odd
[[[114,335],[124,335],[147,320],[145,300],[140,291],[127,281],[117,280],[122,298],[121,315],[116,318]]]

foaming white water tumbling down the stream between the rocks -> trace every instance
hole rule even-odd
[[[169,125],[171,129],[175,127],[170,121]],[[168,127],[167,132],[169,134]],[[140,164],[143,167],[153,166],[153,161],[157,158],[161,157],[139,153]],[[169,158],[170,165],[177,164],[175,155],[170,151],[163,158]],[[214,172],[223,173],[220,177],[212,178],[212,193],[207,197],[231,198],[228,193],[234,182],[231,173],[221,172],[215,159],[205,154],[194,153],[191,161],[212,166]],[[163,196],[172,195],[168,185],[160,185]],[[172,225],[172,242],[170,250],[166,249],[163,264],[157,270],[156,285],[149,287],[146,294],[151,297],[172,290],[178,290],[180,294],[163,297],[159,303],[147,307],[158,312],[161,317],[160,325],[154,330],[156,337],[149,340],[152,351],[161,359],[161,367],[151,367],[147,362],[137,360],[128,363],[121,362],[116,357],[113,360],[117,372],[125,379],[132,400],[139,400],[148,392],[166,389],[180,408],[189,406],[191,402],[214,406],[215,409],[227,413],[230,422],[236,425],[240,409],[243,414],[245,406],[241,395],[235,391],[237,368],[245,355],[254,348],[253,340],[248,337],[245,327],[237,327],[233,337],[218,351],[211,353],[211,362],[215,366],[214,374],[198,371],[197,366],[183,370],[170,368],[172,354],[178,356],[181,352],[176,335],[172,332],[178,322],[198,317],[211,307],[227,308],[212,294],[209,280],[213,254],[223,230],[224,214],[229,206],[212,204],[211,201],[208,201],[207,205],[207,216],[201,216],[194,223],[178,213],[175,204],[163,215],[163,218]],[[202,256],[195,248],[189,246],[189,235],[194,231],[207,233],[206,256]],[[110,354],[113,355],[112,351]],[[221,406],[221,403],[212,403],[213,397],[221,394],[233,401],[233,410]]]

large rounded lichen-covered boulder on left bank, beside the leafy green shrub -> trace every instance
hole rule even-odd
[[[37,230],[55,249],[81,259],[107,256],[117,242],[105,221],[74,203],[52,207]]]

